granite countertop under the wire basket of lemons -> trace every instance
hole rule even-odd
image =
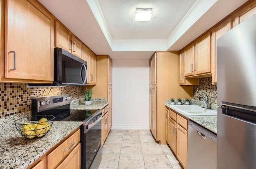
[[[0,168],[26,169],[54,145],[79,128],[82,122],[54,122],[50,131],[42,138],[26,139],[21,136],[13,120],[21,115],[1,119]]]

